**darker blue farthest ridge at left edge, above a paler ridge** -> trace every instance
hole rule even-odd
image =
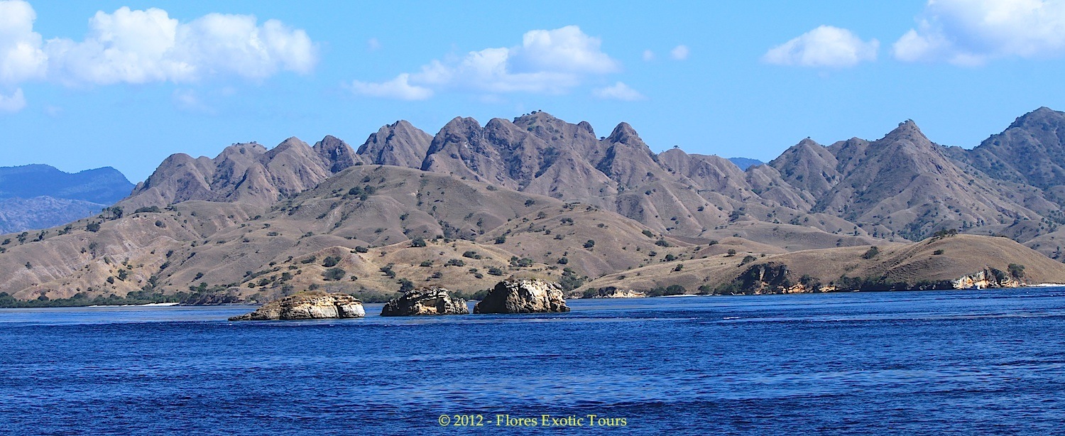
[[[53,198],[112,205],[133,191],[126,176],[105,166],[70,174],[50,165],[0,167],[0,198]]]

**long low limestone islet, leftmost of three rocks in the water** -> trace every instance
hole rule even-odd
[[[317,320],[365,316],[362,302],[351,295],[310,291],[275,300],[264,304],[259,310],[230,318],[229,321]]]

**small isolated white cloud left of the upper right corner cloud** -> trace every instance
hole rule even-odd
[[[761,60],[775,65],[850,67],[875,61],[879,48],[876,39],[864,42],[847,29],[821,26],[769,49]]]

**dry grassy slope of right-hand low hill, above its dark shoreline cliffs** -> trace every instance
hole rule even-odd
[[[792,285],[808,280],[816,287],[847,289],[841,277],[872,278],[887,284],[955,280],[983,271],[1010,271],[1010,264],[1023,265],[1028,284],[1065,282],[1065,265],[1005,238],[958,235],[921,242],[878,245],[879,253],[866,255],[870,246],[808,249],[763,256],[739,252],[705,259],[667,262],[619,272],[586,284],[573,291],[615,287],[648,291],[671,285],[683,286],[688,293],[709,293],[737,282],[740,276],[759,265],[784,265]],[[865,256],[864,256],[865,255]],[[751,256],[744,262],[747,256]],[[865,258],[868,256],[868,258]],[[753,260],[751,260],[753,258]],[[677,265],[683,265],[681,271]],[[805,277],[804,277],[805,276]],[[770,292],[782,292],[772,290]],[[805,291],[814,291],[807,288]]]

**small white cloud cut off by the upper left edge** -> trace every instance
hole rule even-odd
[[[36,18],[24,1],[0,1],[0,84],[44,77],[48,58],[33,31]]]

